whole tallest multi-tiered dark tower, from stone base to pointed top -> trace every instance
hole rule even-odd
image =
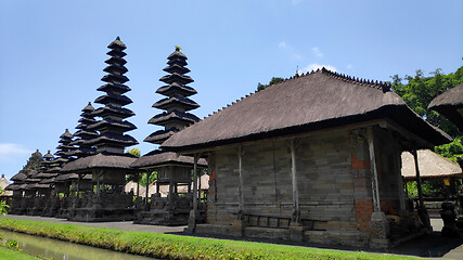
[[[87,126],[86,131],[98,131],[99,135],[85,142],[88,146],[95,146],[97,154],[79,158],[66,164],[62,172],[77,174],[92,174],[92,182],[97,185],[95,194],[82,196],[76,208],[72,220],[76,221],[118,221],[132,220],[134,212],[132,196],[124,192],[126,174],[131,173],[132,164],[136,158],[125,154],[127,146],[138,144],[132,136],[125,132],[136,129],[131,122],[125,120],[133,116],[133,112],[125,108],[132,101],[125,95],[130,88],[125,84],[129,79],[124,75],[128,72],[124,60],[126,46],[119,37],[108,47],[110,58],[105,61],[108,65],[104,68],[107,73],[102,78],[106,82],[98,90],[105,92],[98,98],[95,103],[103,104],[91,113],[91,116],[100,117],[101,120]]]

